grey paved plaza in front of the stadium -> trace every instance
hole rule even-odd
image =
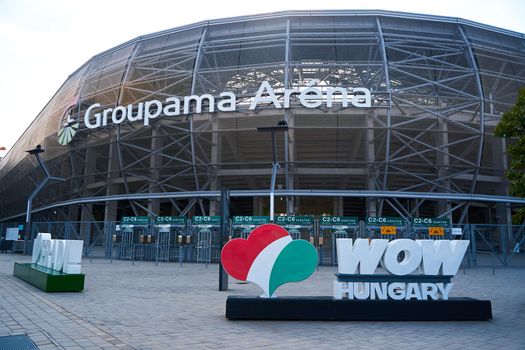
[[[524,349],[525,269],[468,269],[452,296],[492,301],[484,322],[228,321],[228,295],[259,295],[230,279],[219,292],[218,266],[89,260],[82,293],[44,293],[13,277],[0,254],[0,336],[27,334],[44,349]],[[333,267],[278,295],[331,295]]]

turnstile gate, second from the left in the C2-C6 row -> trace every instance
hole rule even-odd
[[[184,216],[158,216],[153,225],[158,261],[185,260],[183,237],[186,236],[187,224]],[[179,239],[180,237],[180,239]]]

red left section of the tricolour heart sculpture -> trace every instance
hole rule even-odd
[[[248,239],[236,238],[224,245],[221,252],[222,266],[233,278],[246,281],[257,255],[270,243],[288,235],[288,231],[279,225],[258,226],[250,233]]]

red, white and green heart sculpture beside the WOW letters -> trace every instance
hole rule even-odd
[[[281,226],[264,224],[256,227],[248,239],[226,243],[221,261],[230,276],[257,284],[264,296],[271,297],[283,284],[310,277],[318,257],[309,242],[292,240]]]

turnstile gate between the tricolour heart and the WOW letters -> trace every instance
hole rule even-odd
[[[357,238],[357,216],[321,216],[319,218],[319,254],[322,265],[337,265],[337,238]]]

